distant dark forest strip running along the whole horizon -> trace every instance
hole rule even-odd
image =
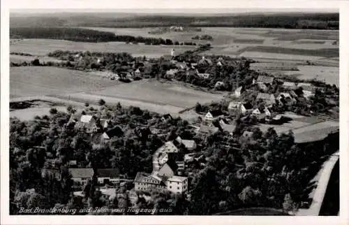
[[[121,13],[122,14],[122,13]],[[61,13],[11,16],[10,27],[265,27],[288,29],[339,29],[339,13],[273,13],[237,15],[136,15],[117,13]]]

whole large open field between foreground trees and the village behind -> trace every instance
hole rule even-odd
[[[91,104],[104,99],[107,103],[120,102],[124,106],[138,106],[175,115],[180,110],[195,106],[197,102],[207,103],[223,98],[223,94],[202,92],[174,83],[154,80],[120,83],[88,74],[54,67],[13,67],[10,68],[10,98],[53,96]],[[44,114],[47,111],[42,108],[38,110]]]

